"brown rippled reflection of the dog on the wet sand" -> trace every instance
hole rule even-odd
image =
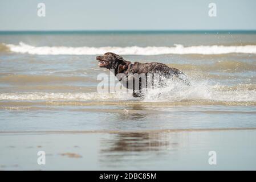
[[[168,155],[177,150],[179,144],[165,133],[118,133],[111,138],[101,139],[100,162],[107,166],[145,160],[157,155]],[[147,158],[147,159],[145,159]]]

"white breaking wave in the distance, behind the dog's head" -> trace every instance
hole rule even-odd
[[[101,55],[105,52],[115,52],[119,55],[163,55],[163,54],[201,54],[220,55],[226,53],[251,53],[256,54],[256,45],[245,46],[189,46],[174,44],[173,47],[35,47],[20,42],[18,45],[4,44],[3,50],[17,53],[29,53],[31,55]]]

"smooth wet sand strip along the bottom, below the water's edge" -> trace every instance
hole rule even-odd
[[[256,129],[1,132],[1,170],[255,170]],[[37,163],[38,151],[46,164]],[[210,165],[209,151],[217,164]]]

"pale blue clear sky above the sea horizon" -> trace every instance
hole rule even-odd
[[[255,8],[255,0],[0,0],[0,30],[256,30]]]

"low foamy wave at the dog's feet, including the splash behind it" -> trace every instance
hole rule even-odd
[[[131,93],[97,92],[26,92],[0,93],[0,100],[39,101],[142,101],[142,102],[256,102],[255,85],[221,86],[207,82],[192,82],[186,86],[172,82],[165,88],[149,89],[143,100],[133,98]],[[124,97],[124,94],[126,95]]]

